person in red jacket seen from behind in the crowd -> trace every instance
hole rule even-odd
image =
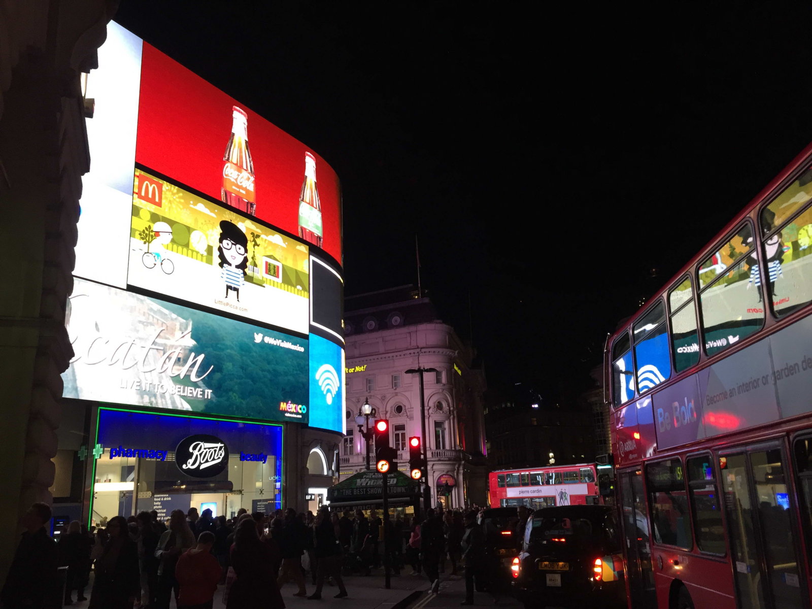
[[[175,565],[175,579],[180,587],[178,609],[212,609],[220,581],[220,564],[211,553],[212,547],[214,533],[202,531],[197,546],[180,555]]]

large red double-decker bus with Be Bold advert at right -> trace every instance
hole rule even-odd
[[[607,340],[628,607],[810,607],[812,146]]]

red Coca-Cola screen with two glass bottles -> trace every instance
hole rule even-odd
[[[339,179],[308,146],[144,43],[136,162],[341,257]]]

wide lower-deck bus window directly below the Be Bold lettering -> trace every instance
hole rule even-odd
[[[646,484],[654,541],[689,550],[693,543],[682,462],[673,458],[649,464]]]

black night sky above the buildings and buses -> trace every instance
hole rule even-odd
[[[810,6],[570,6],[123,0],[116,20],[330,163],[348,295],[417,283],[417,234],[490,385],[557,395],[812,140]]]

